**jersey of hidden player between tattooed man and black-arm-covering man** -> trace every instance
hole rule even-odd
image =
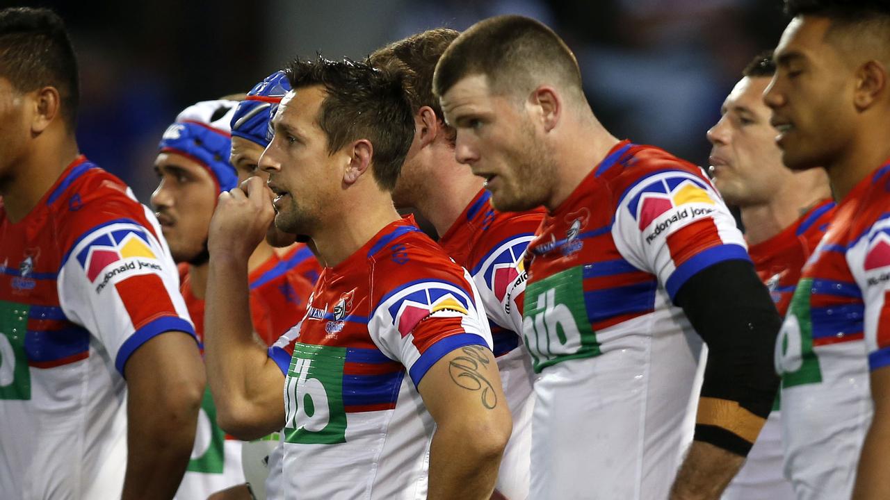
[[[488,314],[494,353],[510,412],[513,433],[498,472],[498,492],[529,496],[532,371],[520,342],[525,271],[522,254],[544,219],[544,210],[500,213],[481,190],[439,240],[446,254],[470,271]]]

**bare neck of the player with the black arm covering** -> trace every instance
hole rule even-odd
[[[578,122],[572,132],[566,133],[564,140],[558,145],[557,155],[554,155],[554,189],[544,204],[547,211],[553,213],[562,205],[587,174],[618,143],[619,140],[603,128],[593,115],[584,122]]]

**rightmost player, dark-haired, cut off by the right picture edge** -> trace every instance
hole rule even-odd
[[[886,498],[890,476],[890,4],[788,1],[765,93],[782,161],[837,211],[776,343],[797,498]]]

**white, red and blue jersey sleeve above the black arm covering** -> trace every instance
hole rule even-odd
[[[749,260],[745,239],[714,187],[679,169],[635,181],[619,199],[612,236],[627,262],[655,274],[672,300],[700,270]]]

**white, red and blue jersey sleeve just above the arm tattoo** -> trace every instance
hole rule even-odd
[[[484,345],[492,349],[491,332],[472,278],[458,286],[421,280],[384,296],[368,322],[377,348],[401,362],[417,386],[433,365],[455,349]]]

